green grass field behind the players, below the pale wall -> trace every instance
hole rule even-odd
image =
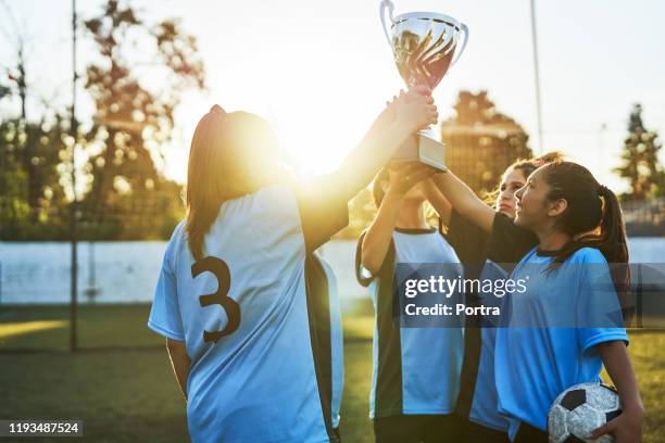
[[[83,419],[84,440],[96,442],[187,441],[185,402],[163,339],[146,328],[149,306],[79,309],[81,351],[70,354],[66,306],[0,307],[0,419]],[[371,317],[344,320],[347,443],[373,441],[371,333]],[[644,441],[664,442],[665,333],[632,332],[629,350],[648,412]]]

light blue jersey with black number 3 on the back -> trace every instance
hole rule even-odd
[[[326,275],[312,251],[347,217],[346,201],[297,198],[275,185],[222,205],[202,260],[189,251],[184,221],[175,229],[148,326],[186,343],[192,441],[335,440],[338,314],[316,293],[329,283],[308,269]]]

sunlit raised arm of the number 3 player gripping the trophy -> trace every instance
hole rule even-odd
[[[361,143],[332,173],[346,200],[351,200],[390,160],[393,152],[417,131],[437,122],[437,107],[427,87],[400,93],[374,122]]]

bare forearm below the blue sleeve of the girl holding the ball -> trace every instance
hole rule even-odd
[[[622,341],[611,341],[598,346],[605,369],[619,393],[624,409],[641,412],[643,409],[642,398],[626,351],[626,344]]]

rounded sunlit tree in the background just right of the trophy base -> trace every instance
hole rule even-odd
[[[487,91],[462,91],[454,107],[456,116],[441,125],[446,162],[478,194],[492,191],[510,164],[532,155],[529,136],[497,111]]]

